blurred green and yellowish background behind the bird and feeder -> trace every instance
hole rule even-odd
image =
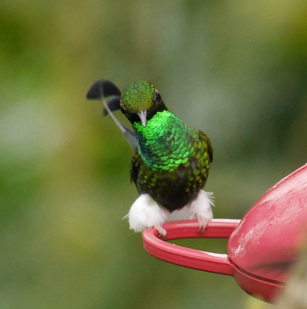
[[[132,150],[85,95],[100,78],[154,83],[211,138],[215,218],[242,218],[306,162],[306,57],[305,1],[2,0],[0,308],[261,306],[143,250],[121,219]]]

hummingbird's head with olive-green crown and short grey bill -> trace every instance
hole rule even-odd
[[[132,124],[141,122],[146,127],[147,120],[166,109],[155,86],[147,81],[132,83],[122,91],[121,111]]]

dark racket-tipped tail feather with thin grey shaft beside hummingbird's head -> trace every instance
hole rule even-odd
[[[97,80],[86,95],[87,99],[102,99],[104,102],[104,115],[110,115],[115,124],[121,129],[127,142],[132,149],[137,148],[137,140],[134,131],[122,125],[120,121],[114,116],[113,111],[120,108],[121,91],[108,80]]]

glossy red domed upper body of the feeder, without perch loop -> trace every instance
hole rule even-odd
[[[307,233],[307,164],[280,180],[247,212],[228,241],[234,264],[285,281]]]

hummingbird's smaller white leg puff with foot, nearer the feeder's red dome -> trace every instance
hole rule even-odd
[[[196,199],[190,204],[190,210],[193,213],[191,219],[198,220],[200,232],[204,232],[208,221],[213,218],[211,209],[211,205],[214,206],[213,198],[213,192],[200,190]]]

